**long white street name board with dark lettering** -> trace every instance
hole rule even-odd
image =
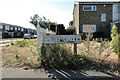
[[[42,43],[46,44],[75,44],[80,43],[80,35],[44,35]]]

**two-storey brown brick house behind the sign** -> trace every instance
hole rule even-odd
[[[111,24],[120,28],[119,1],[75,1],[73,9],[73,25],[76,34],[94,33],[110,38]]]

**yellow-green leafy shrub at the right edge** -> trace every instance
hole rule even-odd
[[[120,58],[120,34],[118,33],[118,28],[113,25],[112,27],[112,41],[111,46],[115,52],[115,54]]]

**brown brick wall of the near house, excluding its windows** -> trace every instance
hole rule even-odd
[[[83,4],[80,4],[79,23],[98,24],[99,31],[104,32],[104,37],[110,37],[110,22],[112,21],[112,4],[107,4],[105,6],[104,4],[97,4],[96,6],[97,11],[83,11]],[[106,22],[101,22],[101,13],[106,13]]]

